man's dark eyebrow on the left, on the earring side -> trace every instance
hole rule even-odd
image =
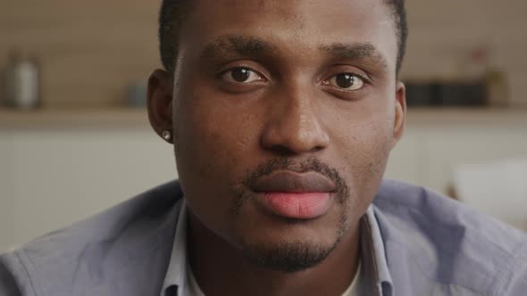
[[[214,58],[236,52],[240,55],[254,56],[276,51],[277,47],[258,37],[225,35],[206,45],[203,57]]]

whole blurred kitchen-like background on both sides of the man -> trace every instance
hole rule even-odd
[[[387,177],[527,230],[527,2],[406,0]],[[0,251],[175,177],[150,129],[159,1],[0,0]]]

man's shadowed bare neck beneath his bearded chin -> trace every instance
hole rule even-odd
[[[188,211],[188,259],[197,283],[207,296],[339,296],[356,275],[359,236],[357,221],[321,264],[286,273],[256,266]]]

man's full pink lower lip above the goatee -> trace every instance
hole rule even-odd
[[[283,218],[312,219],[330,209],[330,193],[263,193],[263,205]]]

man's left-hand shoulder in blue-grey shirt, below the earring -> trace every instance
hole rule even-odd
[[[181,196],[173,181],[0,256],[0,294],[113,295],[109,280],[162,273]]]

